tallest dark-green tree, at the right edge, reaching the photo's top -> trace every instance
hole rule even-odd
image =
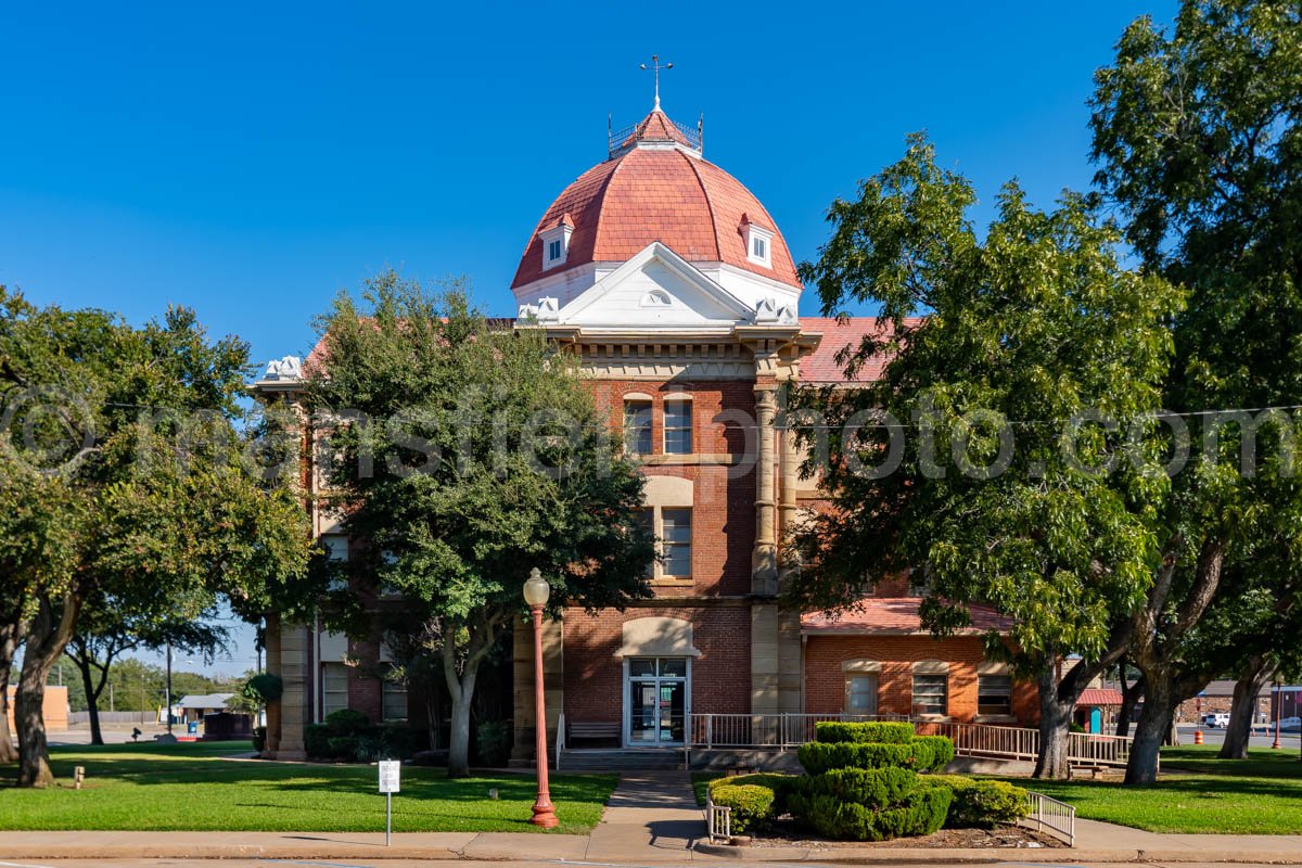
[[[1170,491],[1164,567],[1137,616],[1147,698],[1126,780],[1146,783],[1176,705],[1210,677],[1187,645],[1226,562],[1268,537],[1295,553],[1302,534],[1294,419],[1203,415],[1302,394],[1302,9],[1186,0],[1172,33],[1141,18],[1096,73],[1092,109],[1099,186],[1144,265],[1189,290],[1167,406],[1194,414],[1199,454]],[[1250,454],[1254,440],[1266,448]]]

